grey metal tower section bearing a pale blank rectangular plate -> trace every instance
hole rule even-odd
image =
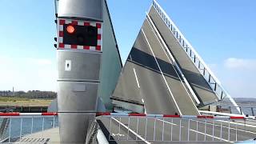
[[[98,82],[58,82],[58,111],[95,111]]]

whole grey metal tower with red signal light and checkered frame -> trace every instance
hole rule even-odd
[[[58,1],[58,113],[62,143],[86,142],[97,108],[102,0]]]

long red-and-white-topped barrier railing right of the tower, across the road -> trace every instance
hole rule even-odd
[[[98,119],[106,122],[108,141],[116,142],[241,142],[256,134],[246,129],[246,118],[241,116],[105,113]]]

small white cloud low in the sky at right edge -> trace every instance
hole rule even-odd
[[[256,59],[227,58],[224,66],[229,69],[256,70]]]

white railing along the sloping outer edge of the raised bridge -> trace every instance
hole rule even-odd
[[[172,34],[174,34],[174,37],[177,38],[177,41],[183,47],[183,50],[186,51],[186,54],[190,57],[190,60],[194,63],[194,66],[198,68],[200,73],[206,79],[206,82],[208,82],[212,90],[214,90],[215,94],[218,96],[218,99],[222,100],[224,98],[229,98],[230,102],[232,102],[234,106],[238,106],[237,103],[234,102],[234,99],[230,97],[230,94],[228,94],[227,91],[223,88],[218,78],[216,78],[210,68],[206,66],[206,63],[202,60],[197,51],[194,50],[194,47],[190,44],[190,42],[186,40],[180,30],[178,30],[178,27],[169,18],[169,16],[158,4],[158,2],[154,0],[152,6],[158,12],[162,18],[162,21],[166,23],[166,26],[169,27]],[[239,107],[237,110],[239,113],[241,112]]]

